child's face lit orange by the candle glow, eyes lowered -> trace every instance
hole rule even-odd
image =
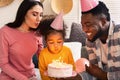
[[[51,33],[47,36],[47,47],[48,50],[53,53],[59,53],[63,47],[63,36],[61,33]]]

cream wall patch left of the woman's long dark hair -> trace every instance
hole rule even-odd
[[[22,0],[14,0],[11,4],[0,7],[0,27],[14,20],[17,8]]]

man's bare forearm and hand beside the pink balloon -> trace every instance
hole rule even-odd
[[[87,65],[85,65],[86,67],[86,71],[99,78],[100,80],[108,80],[107,79],[107,72],[103,71],[101,68],[99,68],[98,66],[94,65],[94,64],[90,64],[90,66],[88,67]]]

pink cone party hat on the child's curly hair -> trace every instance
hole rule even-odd
[[[55,30],[63,30],[63,11],[61,11],[50,25]]]

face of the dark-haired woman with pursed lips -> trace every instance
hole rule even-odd
[[[35,5],[25,15],[24,23],[29,28],[37,28],[43,17],[43,8],[40,5]]]

